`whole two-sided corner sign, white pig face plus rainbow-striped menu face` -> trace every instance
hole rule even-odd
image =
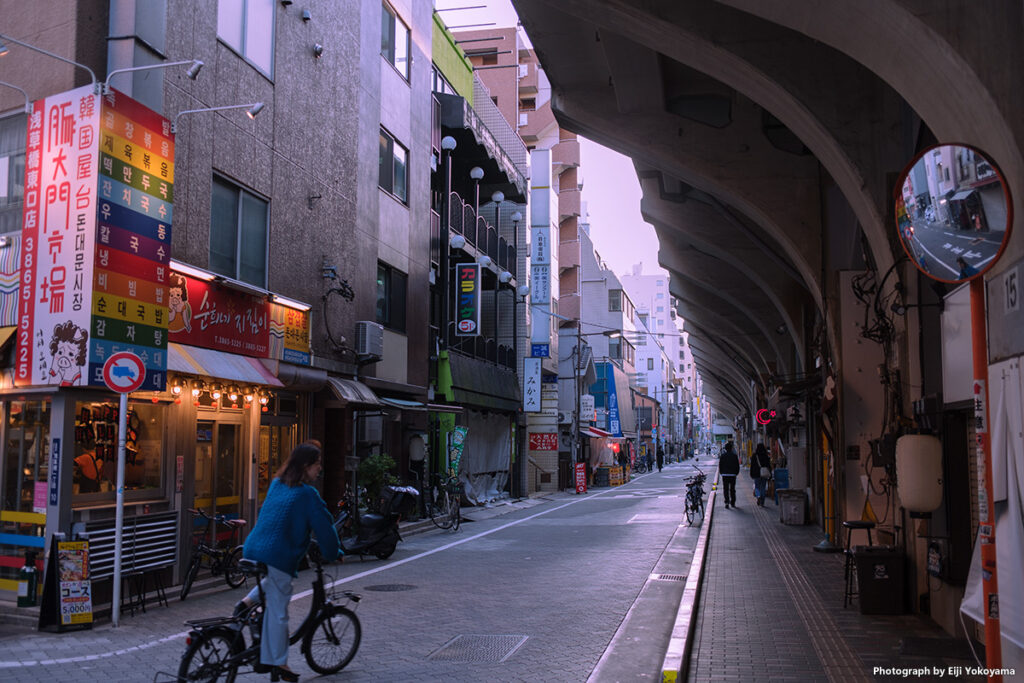
[[[91,86],[33,102],[15,382],[103,386],[119,351],[163,390],[174,181],[170,122]]]

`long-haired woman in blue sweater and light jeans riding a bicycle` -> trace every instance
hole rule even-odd
[[[243,557],[263,562],[266,605],[260,638],[260,664],[285,681],[299,680],[288,668],[288,603],[292,598],[292,579],[299,575],[299,562],[309,548],[310,530],[316,535],[325,561],[338,557],[338,532],[331,513],[319,493],[310,482],[321,473],[321,450],[312,443],[300,443],[278,470],[260,508],[256,526],[246,539]],[[236,605],[241,613],[259,602],[254,588]]]

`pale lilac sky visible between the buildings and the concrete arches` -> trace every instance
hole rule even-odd
[[[451,7],[475,7],[443,11]],[[509,0],[435,0],[434,7],[449,27],[494,23],[504,28],[518,23]],[[458,31],[458,29],[456,29]],[[467,29],[469,30],[469,29]],[[601,259],[618,275],[643,263],[645,274],[666,272],[657,266],[657,236],[640,217],[640,181],[633,162],[596,142],[581,138],[580,176],[587,203],[590,234]]]

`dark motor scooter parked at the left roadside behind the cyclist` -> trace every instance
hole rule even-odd
[[[398,522],[416,508],[418,492],[413,486],[384,486],[381,492],[381,511],[359,514],[351,495],[346,494],[338,503],[334,527],[341,539],[346,555],[374,555],[386,560],[401,541]]]

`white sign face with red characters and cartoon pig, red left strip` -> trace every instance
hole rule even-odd
[[[25,152],[16,384],[86,384],[96,231],[99,97],[37,99]]]

